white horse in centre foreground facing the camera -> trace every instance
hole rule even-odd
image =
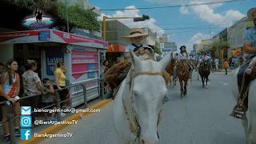
[[[162,70],[165,70],[171,56],[167,54],[160,62],[154,62],[130,53],[132,68],[114,99],[118,143],[157,144],[159,114],[167,93]]]

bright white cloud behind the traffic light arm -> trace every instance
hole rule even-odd
[[[126,9],[134,9],[136,8],[135,6],[127,6]],[[99,20],[102,20],[103,15],[107,16],[108,18],[118,18],[118,17],[141,17],[142,15],[139,14],[140,11],[139,10],[117,10],[115,12],[115,14],[112,15],[106,15],[106,14],[101,14],[100,18],[98,18]],[[134,22],[134,20],[132,18],[129,19],[117,19],[119,22],[122,22],[123,24],[125,24],[126,26],[130,27],[130,28],[134,28],[134,27],[138,27],[138,28],[142,28],[142,27],[149,27],[150,30],[158,33],[158,35],[162,35],[165,33],[164,30],[162,30],[162,28],[160,28],[159,26],[157,26],[155,24],[155,19],[154,18],[150,18],[149,20],[146,21],[142,21],[142,22]]]

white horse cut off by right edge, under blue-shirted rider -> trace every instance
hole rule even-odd
[[[238,100],[238,71],[239,68],[232,72],[232,92],[234,98]],[[248,111],[247,120],[242,120],[242,126],[244,127],[246,134],[246,144],[256,144],[256,80],[250,82],[249,94],[248,94]]]

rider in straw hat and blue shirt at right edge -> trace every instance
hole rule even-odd
[[[244,57],[246,58],[246,63],[241,66],[238,72],[238,89],[240,98],[238,98],[238,105],[234,107],[231,116],[236,116],[236,108],[242,107],[244,113],[246,113],[248,98],[246,97],[246,89],[253,80],[252,71],[255,69],[256,64],[256,7],[248,10],[247,17],[249,21],[254,22],[254,27],[246,30],[246,36],[243,42]],[[244,81],[244,82],[243,82]],[[244,98],[245,97],[245,98]]]

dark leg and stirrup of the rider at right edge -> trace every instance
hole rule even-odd
[[[250,86],[250,82],[256,78],[256,66],[253,66],[251,68],[252,72],[250,75],[244,72],[244,70],[246,70],[246,68],[248,67],[249,62],[246,62],[244,66],[241,66],[238,72],[238,89],[239,89],[238,102],[236,106],[234,106],[234,109],[230,114],[234,118],[246,119],[246,111],[248,110],[249,86]]]

